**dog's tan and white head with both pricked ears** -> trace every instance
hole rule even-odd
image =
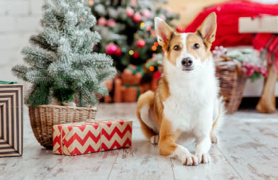
[[[161,18],[155,18],[157,41],[167,60],[184,72],[205,67],[216,36],[216,13],[209,14],[195,33],[176,33]]]

